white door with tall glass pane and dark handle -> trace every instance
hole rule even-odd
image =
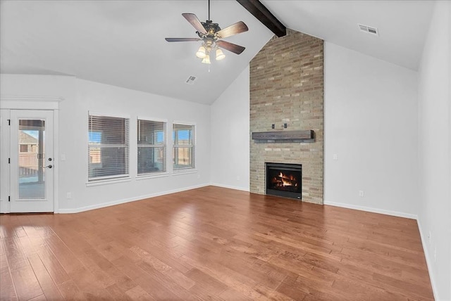
[[[10,111],[9,212],[54,211],[54,112]]]

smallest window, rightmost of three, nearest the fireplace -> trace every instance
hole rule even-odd
[[[173,124],[173,169],[194,168],[194,125]]]

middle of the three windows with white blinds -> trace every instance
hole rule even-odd
[[[137,120],[138,175],[166,172],[166,122]]]

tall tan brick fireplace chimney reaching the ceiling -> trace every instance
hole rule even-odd
[[[250,191],[266,193],[266,163],[302,165],[302,200],[322,204],[323,40],[288,30],[252,59],[250,129],[253,136],[312,133],[312,139],[251,139]]]

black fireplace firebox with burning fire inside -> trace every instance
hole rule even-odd
[[[302,165],[266,162],[266,194],[302,199]]]

